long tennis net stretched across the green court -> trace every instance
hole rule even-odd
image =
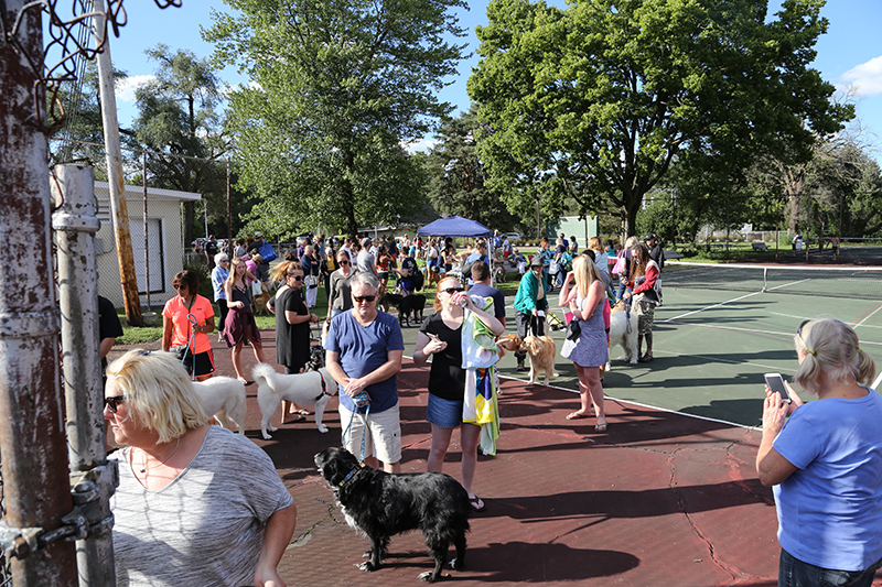
[[[670,263],[663,289],[727,290],[882,300],[882,268]]]

